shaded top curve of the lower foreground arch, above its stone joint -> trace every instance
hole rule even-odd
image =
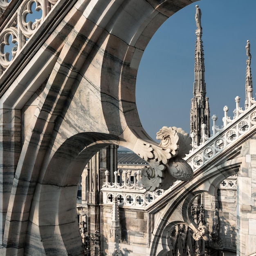
[[[54,153],[47,166],[44,166],[38,182],[57,186],[78,184],[81,173],[76,171],[76,176],[74,170],[83,171],[95,153],[111,144],[118,145],[119,138],[97,132],[83,132],[68,138]]]

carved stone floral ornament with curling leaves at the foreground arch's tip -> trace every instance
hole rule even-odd
[[[157,132],[157,139],[161,140],[159,147],[144,144],[144,155],[140,155],[150,163],[150,167],[141,169],[143,187],[149,191],[166,190],[176,180],[190,180],[192,168],[182,159],[192,148],[189,134],[182,128],[164,126]]]

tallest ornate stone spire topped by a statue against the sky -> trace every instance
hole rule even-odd
[[[202,44],[201,9],[195,6],[195,21],[197,29],[195,44],[195,82],[193,87],[194,98],[191,99],[190,132],[195,135],[197,144],[202,141],[202,124],[206,124],[205,133],[210,135],[210,110],[208,97],[206,96],[206,84],[204,82],[204,50]]]

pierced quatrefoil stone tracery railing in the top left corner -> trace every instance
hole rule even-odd
[[[0,31],[0,76],[35,33],[58,0],[24,0],[14,14],[8,6],[11,1],[0,0],[0,16],[8,22]],[[10,15],[10,16],[9,16]]]

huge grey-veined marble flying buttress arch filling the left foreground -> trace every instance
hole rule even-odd
[[[79,235],[70,216],[81,165],[110,142],[153,163],[156,155],[145,146],[163,152],[139,121],[137,68],[155,31],[192,2],[58,1],[4,67],[1,254],[81,255],[81,241],[70,243]],[[77,168],[73,179],[70,165]],[[65,206],[67,191],[71,202]]]

